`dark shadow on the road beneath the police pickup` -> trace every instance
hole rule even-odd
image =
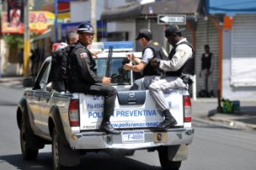
[[[6,161],[20,170],[50,170],[52,169],[51,153],[39,153],[36,161],[24,161],[21,155],[0,156],[0,164]],[[1,166],[2,167],[2,166]],[[14,168],[14,169],[16,169]],[[74,169],[74,167],[70,168]],[[80,165],[76,170],[160,170],[161,167],[150,166],[141,161],[133,160],[130,157],[111,157],[105,153],[89,153],[81,156]]]

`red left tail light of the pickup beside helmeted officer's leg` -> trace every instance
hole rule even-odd
[[[79,99],[71,99],[69,104],[69,123],[71,127],[79,126]]]

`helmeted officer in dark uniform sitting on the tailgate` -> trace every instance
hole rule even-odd
[[[110,77],[98,77],[96,61],[87,49],[93,41],[94,28],[86,22],[79,25],[79,41],[70,56],[70,71],[68,74],[69,91],[104,96],[103,119],[99,130],[105,133],[119,133],[110,123],[113,115],[114,101],[117,91],[110,86]]]

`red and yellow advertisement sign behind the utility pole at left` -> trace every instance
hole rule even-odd
[[[10,11],[10,14],[14,12]],[[3,34],[23,34],[25,31],[24,24],[21,22],[22,18],[18,20],[11,17],[9,13],[3,12]],[[30,11],[29,12],[29,28],[30,31],[42,34],[47,30],[48,26],[54,24],[55,14],[47,11]]]

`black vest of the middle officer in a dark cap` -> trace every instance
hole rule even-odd
[[[153,50],[154,57],[152,59],[154,58],[163,59],[164,52],[158,42],[149,42],[147,48],[151,48]],[[145,50],[146,48],[143,49],[143,54]],[[146,65],[145,68],[143,69],[143,76],[154,76],[154,75],[160,75],[160,69],[154,68],[152,65],[150,65],[150,61],[149,61],[148,65]]]

